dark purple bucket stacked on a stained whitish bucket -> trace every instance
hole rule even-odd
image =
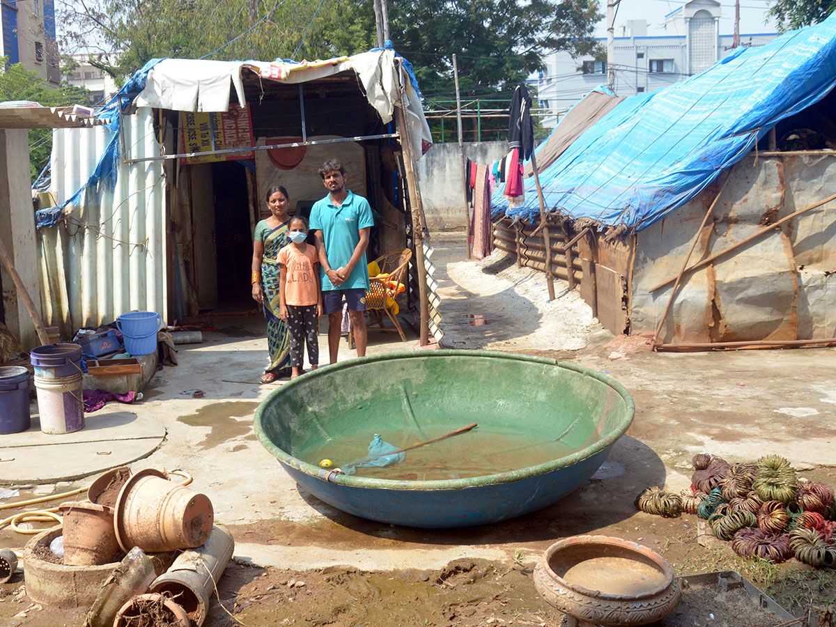
[[[29,352],[41,431],[72,433],[84,429],[84,398],[79,344],[48,344]]]

